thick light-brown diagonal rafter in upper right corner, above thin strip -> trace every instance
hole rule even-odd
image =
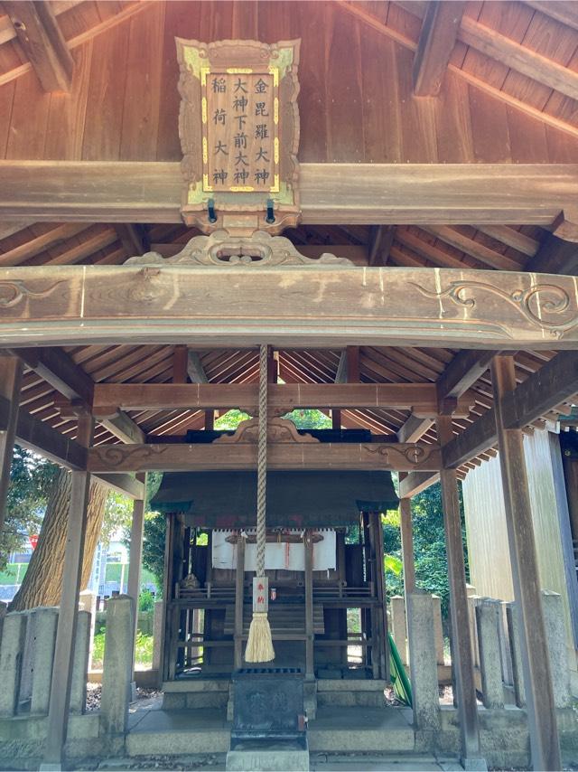
[[[537,80],[538,83],[544,83],[571,99],[578,99],[578,72],[520,45],[469,16],[463,16],[461,19],[458,39],[465,45],[471,45],[476,51],[485,53],[490,59],[499,61],[512,70]]]

